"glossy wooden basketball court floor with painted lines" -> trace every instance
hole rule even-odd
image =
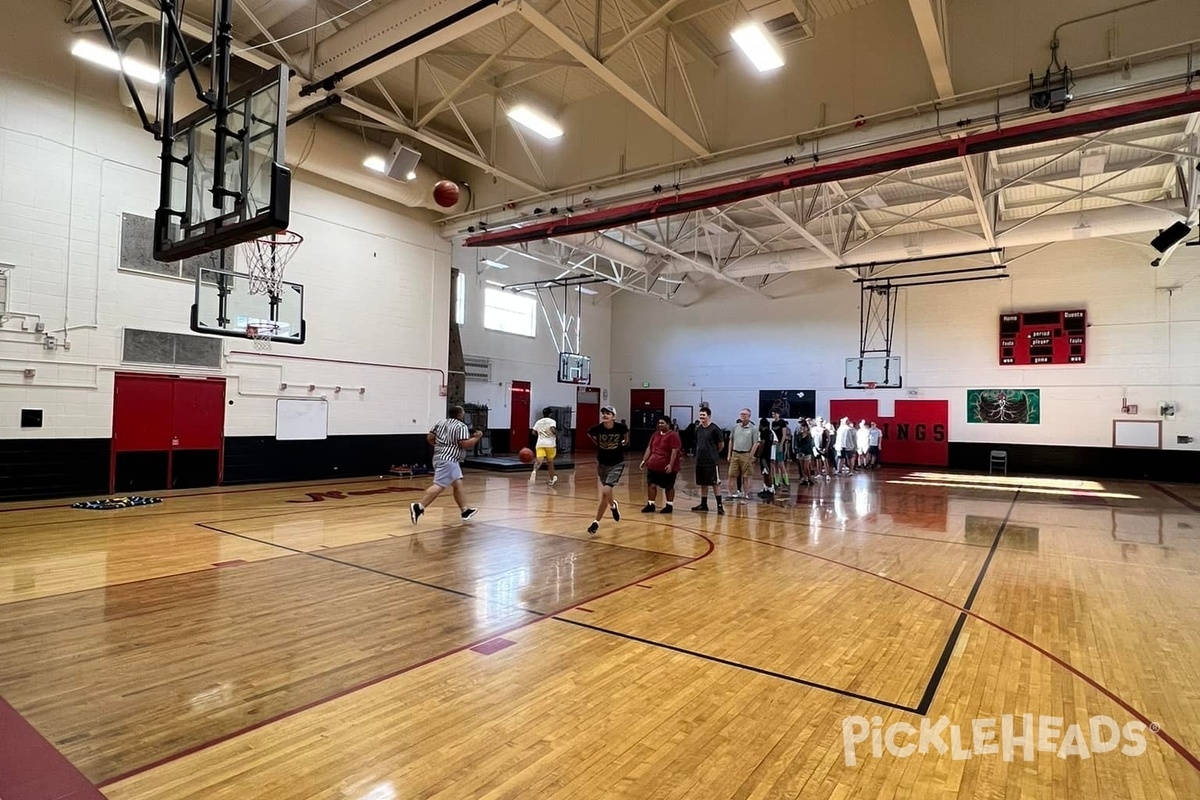
[[[1200,487],[887,469],[667,517],[630,463],[589,537],[580,462],[416,528],[426,479],[0,506],[0,796],[1200,796]],[[1006,760],[1004,715],[1057,732]]]

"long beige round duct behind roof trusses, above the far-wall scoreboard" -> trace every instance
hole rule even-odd
[[[1156,207],[1150,207],[1156,206]],[[1181,219],[1178,201],[1160,201],[1139,206],[1118,206],[1097,209],[1079,213],[1046,215],[1014,227],[1012,233],[996,234],[997,247],[1026,247],[1055,241],[1070,241],[1100,236],[1121,236],[1127,234],[1159,230]],[[1014,223],[1014,225],[1018,223]],[[922,233],[916,242],[922,255],[954,255],[964,251],[978,249],[983,246],[978,236],[966,231],[935,230]],[[912,258],[912,236],[882,236],[845,254],[851,264],[870,264],[900,261]],[[834,266],[822,253],[815,249],[791,249],[776,253],[749,255],[731,264],[725,275],[734,278],[751,275],[770,275],[773,272],[794,272],[799,270],[817,270]],[[686,271],[686,265],[676,266],[673,271]]]

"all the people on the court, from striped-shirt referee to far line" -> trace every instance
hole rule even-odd
[[[536,455],[529,482],[538,479],[542,463],[550,474],[550,483],[558,481],[554,475],[554,457],[557,453],[557,423],[550,416],[550,409],[542,409],[542,417],[534,423],[538,433]],[[640,468],[646,470],[646,506],[642,513],[672,513],[674,511],[674,485],[679,475],[684,449],[678,426],[667,416],[658,420],[658,427],[642,455]],[[463,422],[463,408],[451,407],[450,416],[438,422],[428,432],[428,443],[433,446],[433,485],[426,489],[420,501],[409,507],[413,524],[425,513],[446,488],[450,488],[463,519],[470,519],[478,509],[467,505],[462,494],[462,461],[466,451],[474,447],[482,438],[482,432],[472,433]],[[600,422],[588,429],[588,437],[596,446],[596,488],[600,498],[595,518],[588,525],[588,534],[600,530],[600,521],[608,513],[613,522],[620,521],[620,506],[613,499],[613,488],[625,471],[625,450],[629,447],[629,427],[617,421],[617,410],[612,405],[600,408]],[[812,485],[814,480],[824,476],[830,480],[833,473],[850,474],[854,469],[878,467],[882,431],[875,422],[860,421],[856,428],[848,417],[842,417],[838,427],[816,417],[800,419],[796,431],[787,420],[780,419],[778,411],[772,419],[762,417],[758,425],[751,422],[750,409],[744,408],[738,414],[738,421],[728,434],[713,422],[713,411],[707,405],[700,407],[694,428],[692,446],[695,455],[696,486],[700,488],[700,504],[692,511],[707,512],[709,491],[713,491],[716,513],[724,515],[721,499],[720,470],[718,468],[722,455],[730,459],[730,495],[749,494],[755,469],[762,476],[761,494],[773,495],[781,486],[790,485],[788,461],[799,464],[799,482]],[[689,439],[692,439],[689,437]],[[664,491],[664,505],[659,510],[658,491]]]

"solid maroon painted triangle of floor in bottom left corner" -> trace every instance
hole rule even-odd
[[[104,800],[17,709],[0,698],[0,792],[4,800]]]

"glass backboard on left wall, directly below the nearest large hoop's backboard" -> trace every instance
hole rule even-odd
[[[242,338],[257,335],[271,342],[304,344],[304,285],[284,281],[277,296],[250,289],[248,275],[204,270],[196,278],[192,330]],[[263,335],[266,331],[269,337]]]

